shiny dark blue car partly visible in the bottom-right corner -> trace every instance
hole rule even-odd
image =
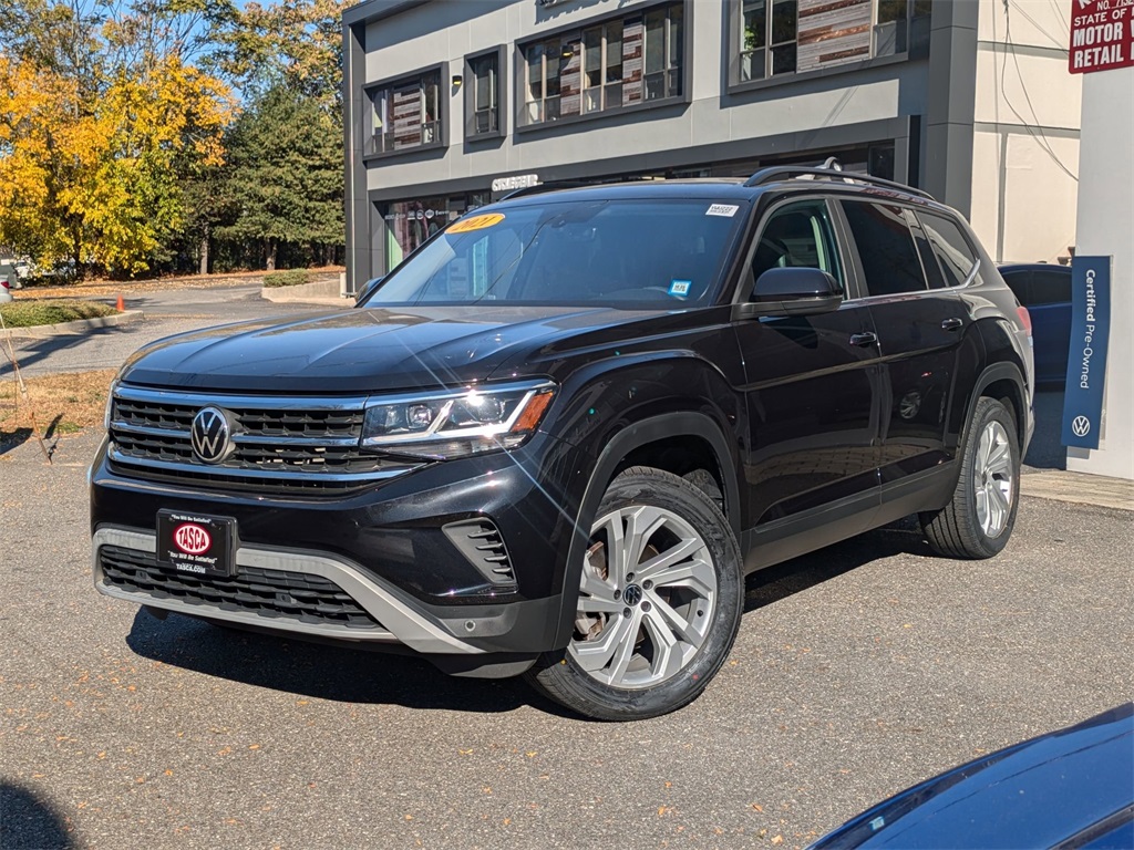
[[[1134,848],[1134,703],[914,785],[811,845]]]

